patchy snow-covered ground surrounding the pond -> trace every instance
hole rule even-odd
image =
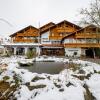
[[[70,62],[69,59],[56,57],[37,57],[35,60]],[[14,92],[17,100],[85,100],[86,89],[83,87],[84,84],[87,84],[96,100],[100,100],[100,65],[98,64],[73,60],[72,63],[79,65],[78,69],[65,69],[59,74],[50,75],[32,73],[26,69],[21,69],[18,65],[19,61],[32,62],[34,59],[11,57],[0,59],[0,61],[1,65],[5,63],[8,65],[6,70],[1,73],[0,80],[9,76],[10,79],[6,81],[11,83],[14,81],[15,75],[21,80],[18,83],[18,89]],[[85,76],[85,79],[78,78],[80,75]]]

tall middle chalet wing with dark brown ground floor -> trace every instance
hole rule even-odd
[[[80,29],[81,27],[66,20],[58,24],[49,23],[47,25],[44,25],[40,28],[42,44],[41,54],[64,56],[65,48],[61,43],[62,39]]]

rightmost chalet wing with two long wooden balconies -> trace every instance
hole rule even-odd
[[[65,55],[93,57],[93,50],[100,48],[100,29],[89,25],[62,39]]]

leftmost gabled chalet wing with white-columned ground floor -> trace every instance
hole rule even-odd
[[[13,33],[10,37],[10,43],[2,44],[5,47],[4,54],[7,49],[14,55],[25,55],[28,50],[35,50],[37,54],[40,53],[39,29],[30,25]]]

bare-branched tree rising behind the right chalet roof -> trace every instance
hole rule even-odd
[[[92,23],[100,27],[100,0],[92,0],[89,8],[82,8],[80,14],[84,24]]]

